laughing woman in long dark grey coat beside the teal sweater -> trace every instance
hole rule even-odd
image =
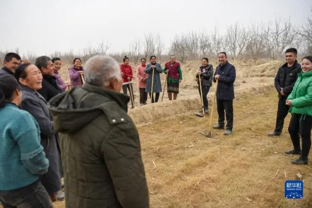
[[[37,66],[22,64],[16,69],[15,77],[22,91],[20,108],[32,114],[38,122],[41,145],[50,163],[48,172],[40,178],[41,184],[52,201],[56,201],[61,189],[60,149],[46,100],[37,92],[42,88],[42,74]]]

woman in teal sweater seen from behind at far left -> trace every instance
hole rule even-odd
[[[0,76],[0,202],[3,208],[52,208],[39,180],[49,160],[37,121],[18,107],[21,96],[14,76]]]

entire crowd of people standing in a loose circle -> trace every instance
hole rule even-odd
[[[285,153],[300,155],[294,164],[308,164],[312,57],[304,57],[300,65],[294,48],[287,49],[285,57],[275,77],[276,126],[268,136],[280,135],[287,113],[292,113],[288,131],[293,149]],[[4,208],[50,208],[65,197],[66,208],[150,206],[139,134],[127,113],[129,101],[135,102],[129,62],[129,57],[119,65],[112,57],[94,56],[82,67],[81,59],[75,58],[66,83],[59,75],[59,57],[41,56],[32,64],[15,53],[5,55],[0,69],[0,202]],[[207,95],[216,83],[218,124],[213,128],[232,134],[235,67],[225,52],[218,54],[215,72],[207,57],[201,62],[195,78],[204,113],[209,113]],[[152,103],[158,102],[165,90],[162,73],[169,100],[177,99],[182,70],[176,57],[171,56],[162,68],[152,56],[149,63],[142,58],[137,66],[140,105],[146,105],[148,95]]]

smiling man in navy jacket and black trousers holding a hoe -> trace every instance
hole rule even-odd
[[[224,135],[232,134],[233,130],[233,99],[234,81],[236,79],[235,67],[227,61],[225,52],[218,54],[219,66],[215,69],[214,82],[218,79],[216,90],[216,104],[218,111],[218,125],[214,129],[224,129],[224,111],[226,115],[226,131]]]

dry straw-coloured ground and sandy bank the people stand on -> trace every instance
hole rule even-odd
[[[168,101],[165,94],[163,102],[129,109],[140,134],[151,208],[312,207],[312,163],[292,165],[296,156],[284,153],[292,148],[290,115],[281,136],[267,136],[274,129],[277,107],[273,76],[283,61],[232,63],[237,70],[232,135],[219,130],[212,130],[218,139],[198,134],[208,130],[210,119],[193,113],[200,109],[194,81],[200,63],[182,66],[177,100]],[[62,76],[68,80],[66,68]],[[136,79],[134,84],[137,104]],[[213,113],[215,124],[216,109]],[[286,179],[304,180],[303,199],[285,199]],[[65,203],[57,202],[55,208],[65,208]]]

